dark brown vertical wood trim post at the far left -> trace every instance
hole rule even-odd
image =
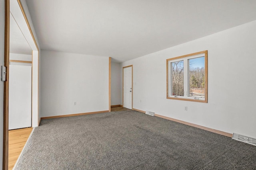
[[[6,66],[6,81],[4,82],[4,141],[3,170],[8,170],[8,139],[9,139],[9,54],[10,54],[10,0],[5,0],[4,29],[4,66]]]

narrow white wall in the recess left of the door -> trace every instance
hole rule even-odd
[[[122,68],[121,63],[111,63],[111,105],[122,104]]]

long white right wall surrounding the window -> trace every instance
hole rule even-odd
[[[122,63],[133,64],[133,107],[256,137],[255,30],[253,21]],[[208,103],[166,99],[166,59],[204,50],[208,50]]]

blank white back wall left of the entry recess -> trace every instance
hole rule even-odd
[[[108,57],[55,51],[41,57],[42,117],[108,110]]]

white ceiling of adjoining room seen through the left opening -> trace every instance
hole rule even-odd
[[[32,55],[32,49],[28,45],[20,27],[10,13],[10,53]]]

